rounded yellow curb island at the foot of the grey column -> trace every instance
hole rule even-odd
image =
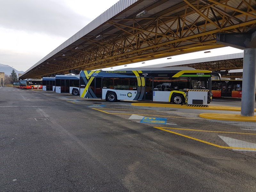
[[[256,122],[256,115],[252,117],[246,117],[246,116],[241,116],[239,114],[228,114],[228,113],[201,113],[199,114],[199,116],[206,119]]]

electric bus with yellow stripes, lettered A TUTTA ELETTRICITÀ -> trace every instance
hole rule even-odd
[[[159,101],[182,104],[187,90],[209,90],[212,101],[212,73],[189,67],[127,68],[116,71],[81,71],[80,97],[117,100]]]

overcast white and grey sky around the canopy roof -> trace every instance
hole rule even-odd
[[[28,70],[116,2],[118,0],[1,1],[0,63],[19,71]],[[228,51],[242,52],[233,48]]]

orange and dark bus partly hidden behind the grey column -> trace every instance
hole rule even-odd
[[[230,80],[222,78],[221,81],[212,80],[212,96],[215,98],[242,98],[242,79]]]

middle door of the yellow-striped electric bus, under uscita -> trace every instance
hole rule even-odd
[[[138,86],[138,98],[137,100],[153,100],[153,78],[141,77],[142,81],[145,79],[144,86]],[[142,84],[143,85],[143,84]]]

